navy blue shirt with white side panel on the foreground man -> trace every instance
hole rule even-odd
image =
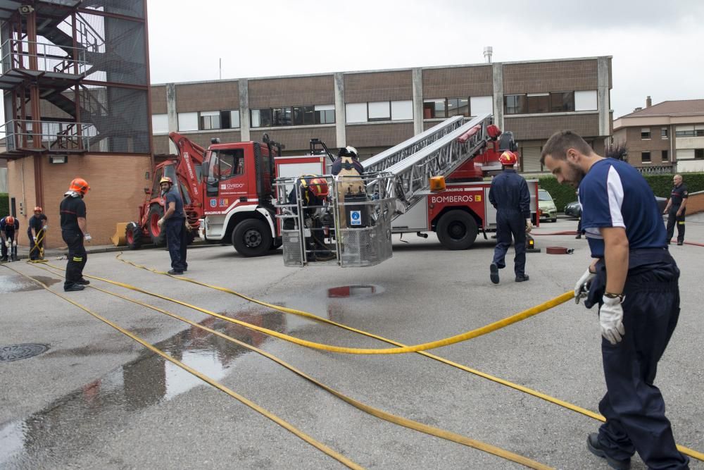
[[[603,159],[591,166],[579,184],[582,230],[591,256],[603,258],[602,227],[626,229],[629,250],[665,248],[665,224],[655,194],[635,168],[624,161]]]

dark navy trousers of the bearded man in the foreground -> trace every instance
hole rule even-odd
[[[653,385],[679,319],[679,270],[672,261],[637,271],[629,271],[624,287],[623,340],[601,341],[607,392],[599,403],[606,418],[599,444],[620,460],[637,451],[648,469],[688,469],[689,457],[675,447],[665,401]]]

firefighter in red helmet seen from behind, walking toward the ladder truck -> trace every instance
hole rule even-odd
[[[489,202],[496,208],[496,248],[494,261],[489,266],[489,278],[498,284],[498,270],[506,266],[506,252],[511,246],[516,256],[513,259],[513,270],[516,282],[528,280],[526,270],[526,232],[530,232],[533,224],[530,220],[530,192],[526,180],[516,173],[513,166],[517,162],[516,154],[507,150],[501,154],[498,161],[503,171],[491,181]]]

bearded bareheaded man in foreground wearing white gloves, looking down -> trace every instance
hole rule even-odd
[[[586,307],[599,305],[606,418],[587,438],[614,469],[638,452],[649,469],[689,469],[674,443],[665,402],[653,382],[679,318],[679,269],[646,180],[624,161],[597,155],[582,137],[556,132],[543,163],[559,183],[579,187],[582,230],[594,259],[574,286]],[[587,287],[588,286],[588,287]]]

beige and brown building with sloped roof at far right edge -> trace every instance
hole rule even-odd
[[[613,140],[643,173],[704,171],[704,99],[662,101],[614,121]]]

